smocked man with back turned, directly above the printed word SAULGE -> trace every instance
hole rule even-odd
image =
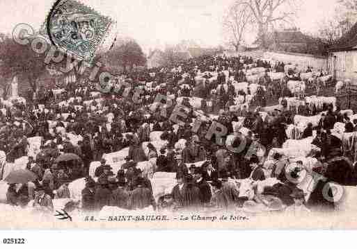
[[[130,195],[130,206],[131,209],[144,209],[145,207],[152,206],[156,209],[156,203],[154,196],[152,196],[152,191],[145,187],[144,179],[138,177],[136,179],[136,188],[132,191]]]

